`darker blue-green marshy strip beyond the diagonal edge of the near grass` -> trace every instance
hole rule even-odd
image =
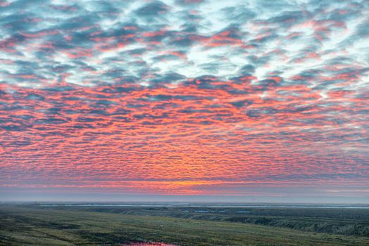
[[[311,231],[369,237],[369,209],[346,208],[257,208],[257,207],[118,207],[57,206],[58,209],[169,216],[182,219],[228,221]],[[47,208],[47,207],[46,207]]]

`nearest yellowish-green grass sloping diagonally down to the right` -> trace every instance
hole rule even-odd
[[[178,245],[369,245],[369,238],[309,233],[225,221],[202,221],[0,207],[0,245],[120,245],[157,241]]]

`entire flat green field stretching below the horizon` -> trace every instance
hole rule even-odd
[[[369,245],[369,209],[0,205],[0,245]]]

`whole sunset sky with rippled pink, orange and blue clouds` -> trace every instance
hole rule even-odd
[[[0,201],[369,203],[369,1],[0,1]]]

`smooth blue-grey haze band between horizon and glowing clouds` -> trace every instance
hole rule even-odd
[[[0,202],[244,202],[369,205],[368,196],[362,196],[362,192],[344,193],[344,195],[332,195],[330,193],[322,195],[323,192],[314,192],[314,189],[301,188],[299,192],[291,192],[290,188],[286,188],[280,190],[279,195],[275,195],[275,189],[270,189],[270,193],[265,193],[267,190],[268,188],[258,188],[254,194],[250,195],[152,195],[124,194],[117,191],[111,193],[108,190],[6,188],[0,190]],[[258,194],[261,192],[264,195]]]

